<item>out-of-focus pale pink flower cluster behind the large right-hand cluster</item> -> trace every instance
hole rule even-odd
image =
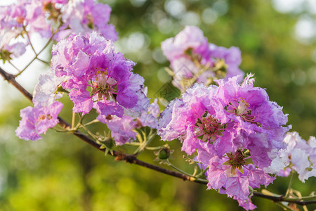
[[[171,63],[172,84],[181,92],[195,82],[211,84],[213,79],[244,74],[238,68],[242,61],[238,48],[209,44],[195,26],[187,26],[176,37],[163,41],[162,51]]]

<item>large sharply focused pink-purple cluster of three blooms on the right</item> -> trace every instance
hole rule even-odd
[[[159,117],[158,134],[163,140],[180,139],[187,154],[197,151],[197,160],[209,167],[208,187],[253,209],[249,186],[267,186],[274,177],[263,171],[273,149],[284,148],[290,127],[287,115],[269,101],[265,89],[254,87],[248,75],[218,79],[218,87],[195,84],[182,98],[171,101]]]

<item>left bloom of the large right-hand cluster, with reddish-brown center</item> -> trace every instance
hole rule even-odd
[[[220,156],[232,151],[234,124],[222,124],[216,117],[220,106],[215,96],[217,91],[218,87],[204,87],[204,84],[187,89],[183,98],[173,101],[159,117],[158,134],[163,140],[182,140],[182,150],[188,154],[196,148],[216,148]]]

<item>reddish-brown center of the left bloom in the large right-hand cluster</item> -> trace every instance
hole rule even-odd
[[[195,136],[204,142],[213,143],[218,136],[223,136],[225,127],[225,124],[221,124],[218,119],[206,111],[195,123]]]

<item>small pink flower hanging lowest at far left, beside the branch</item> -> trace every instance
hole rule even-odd
[[[54,127],[58,121],[58,113],[62,109],[62,103],[55,101],[48,107],[27,107],[21,110],[20,125],[15,130],[20,139],[38,140],[39,134],[43,134],[48,128]]]

